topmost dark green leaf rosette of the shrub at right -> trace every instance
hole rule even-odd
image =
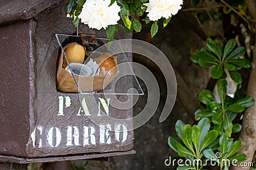
[[[206,45],[209,50],[203,48],[196,55],[191,55],[190,59],[202,67],[214,66],[211,70],[212,78],[225,78],[225,70],[227,70],[232,80],[241,84],[243,80],[237,70],[252,66],[249,60],[239,58],[243,57],[246,49],[242,46],[235,48],[235,39],[230,39],[224,49],[210,38],[206,39]]]

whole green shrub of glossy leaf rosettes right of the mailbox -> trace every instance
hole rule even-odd
[[[255,100],[252,97],[244,97],[236,94],[234,98],[227,96],[227,71],[232,80],[238,85],[242,83],[238,69],[248,68],[252,63],[242,57],[245,53],[244,47],[237,47],[236,41],[230,39],[224,48],[207,38],[206,45],[209,50],[202,48],[191,55],[190,59],[202,67],[212,67],[212,78],[217,81],[217,94],[220,102],[210,90],[200,92],[198,99],[205,108],[195,112],[197,125],[184,124],[178,120],[175,130],[180,140],[170,136],[168,145],[177,152],[180,157],[189,160],[212,159],[218,162],[220,169],[228,169],[228,162],[236,159],[238,162],[246,160],[244,153],[237,154],[241,149],[242,141],[235,140],[233,134],[240,132],[241,124],[234,124],[237,115],[243,114],[245,108],[252,106]],[[199,162],[200,162],[199,161]],[[195,167],[179,166],[177,169],[202,169],[202,164]]]

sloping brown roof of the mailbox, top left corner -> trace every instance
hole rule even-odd
[[[28,20],[61,0],[0,0],[0,24]]]

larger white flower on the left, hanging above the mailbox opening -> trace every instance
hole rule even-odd
[[[78,16],[81,22],[88,24],[93,29],[106,29],[108,25],[117,24],[120,17],[118,12],[121,10],[116,1],[109,6],[111,0],[87,0]]]

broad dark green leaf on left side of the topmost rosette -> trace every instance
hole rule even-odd
[[[218,59],[212,53],[208,51],[203,51],[198,53],[199,59],[198,59],[198,64],[201,67],[211,67],[214,65],[218,65]]]

